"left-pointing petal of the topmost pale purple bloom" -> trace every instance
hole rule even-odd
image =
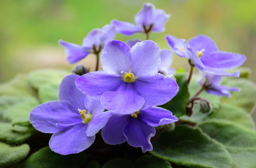
[[[116,31],[120,34],[124,34],[126,36],[130,36],[135,33],[142,32],[142,28],[136,25],[133,25],[129,22],[121,22],[118,20],[112,20],[112,25],[116,28]]]

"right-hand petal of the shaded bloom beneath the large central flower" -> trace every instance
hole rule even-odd
[[[178,120],[170,111],[156,106],[141,110],[138,116],[140,116],[140,119],[143,120],[144,123],[153,127],[170,124]]]

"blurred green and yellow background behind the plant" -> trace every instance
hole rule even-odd
[[[166,31],[150,36],[161,48],[168,48],[166,34],[186,39],[206,34],[220,50],[244,54],[247,60],[243,66],[252,69],[251,78],[256,81],[255,0],[1,0],[0,83],[33,69],[72,69],[74,64],[65,61],[59,39],[81,44],[91,29],[113,19],[134,22],[145,2],[172,14]],[[121,41],[129,38],[116,36]],[[93,68],[95,57],[90,55],[83,63]],[[175,57],[173,67],[189,66]]]

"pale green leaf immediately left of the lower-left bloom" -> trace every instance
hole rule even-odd
[[[39,102],[34,98],[28,98],[21,103],[15,104],[4,112],[4,119],[11,123],[29,123],[30,111],[37,106]]]

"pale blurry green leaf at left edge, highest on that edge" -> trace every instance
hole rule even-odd
[[[0,96],[34,97],[36,93],[27,83],[27,75],[19,73],[7,83],[0,85]]]

